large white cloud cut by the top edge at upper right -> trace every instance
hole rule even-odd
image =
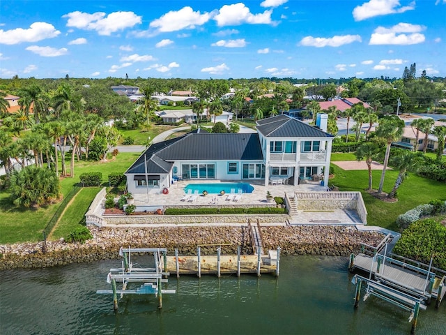
[[[409,6],[401,6],[399,0],[370,0],[356,6],[353,9],[355,21],[366,20],[369,17],[375,17],[387,14],[404,13],[406,10],[415,9],[415,1],[409,3]]]

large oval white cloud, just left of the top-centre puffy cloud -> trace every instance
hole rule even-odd
[[[178,31],[181,29],[194,29],[210,20],[210,13],[201,14],[199,10],[194,10],[185,6],[180,10],[171,10],[162,15],[159,19],[153,20],[149,27],[155,28],[160,32]]]

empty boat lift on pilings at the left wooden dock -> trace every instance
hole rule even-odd
[[[134,267],[131,253],[153,253],[155,267]],[[169,272],[166,271],[167,248],[120,248],[122,256],[121,269],[110,269],[107,283],[112,284],[112,290],[97,290],[99,295],[113,295],[113,308],[118,310],[118,294],[121,295],[155,295],[158,297],[158,308],[162,308],[162,294],[173,294],[176,290],[163,290],[162,283],[167,283]],[[164,278],[163,278],[164,277]],[[139,288],[128,290],[128,283],[141,283]],[[122,283],[117,289],[116,283]]]

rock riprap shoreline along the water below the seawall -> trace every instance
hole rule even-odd
[[[0,245],[0,269],[42,268],[70,263],[119,258],[121,246],[132,248],[167,248],[169,254],[178,248],[180,255],[252,253],[246,227],[176,227],[176,228],[90,228],[93,239],[85,244],[64,241]],[[377,245],[383,235],[358,232],[355,228],[334,226],[298,226],[261,228],[266,249],[282,248],[285,255],[343,255],[360,249],[360,242]]]

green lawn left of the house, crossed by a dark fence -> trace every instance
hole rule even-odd
[[[138,157],[139,153],[131,152],[118,154],[118,156],[108,162],[82,161],[76,163],[75,178],[68,177],[61,179],[61,192],[63,195],[68,194],[73,186],[79,183],[79,176],[84,172],[102,172],[103,185],[107,186],[108,175],[111,172],[125,172],[125,170],[130,167],[130,164]],[[96,191],[94,194],[89,193],[93,188],[87,188],[89,191],[86,192],[84,192],[84,190],[79,191],[63,216],[63,221],[58,225],[58,232],[54,234],[55,238],[62,237],[65,232],[70,232],[72,230],[71,228],[79,223],[80,217],[85,214],[94,195],[99,190],[99,188],[95,189]],[[91,198],[86,199],[84,197]],[[87,202],[88,204],[86,204]],[[8,190],[0,191],[0,244],[41,241],[43,239],[43,229],[58,207],[59,203],[52,204],[48,207],[41,207],[39,209],[15,207],[10,202]],[[70,211],[74,211],[76,216],[73,214],[72,218],[65,218]],[[76,217],[79,217],[79,219]]]

